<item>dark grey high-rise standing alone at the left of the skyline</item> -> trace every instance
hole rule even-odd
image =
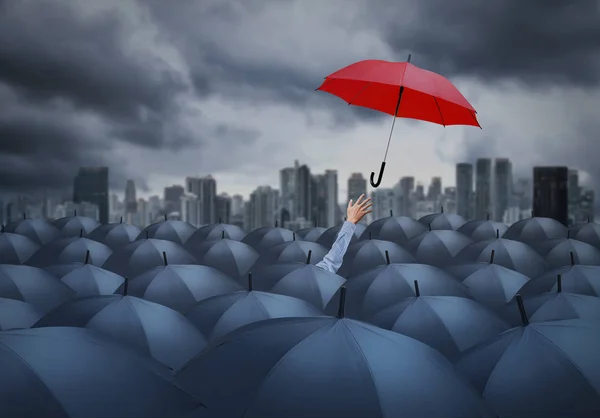
[[[80,168],[73,184],[73,202],[96,205],[98,221],[108,223],[108,167]]]

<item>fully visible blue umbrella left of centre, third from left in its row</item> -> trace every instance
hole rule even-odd
[[[212,267],[174,264],[148,270],[130,280],[127,287],[131,296],[160,303],[179,312],[185,312],[196,302],[209,297],[242,289],[238,282]]]

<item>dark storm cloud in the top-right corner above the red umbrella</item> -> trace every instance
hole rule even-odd
[[[386,18],[385,39],[399,60],[412,52],[417,65],[487,82],[600,81],[597,0],[419,0],[413,6],[410,23],[394,24],[401,9]]]

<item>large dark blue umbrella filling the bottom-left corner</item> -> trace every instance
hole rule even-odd
[[[7,418],[182,417],[202,406],[166,368],[91,330],[0,333],[0,364]]]

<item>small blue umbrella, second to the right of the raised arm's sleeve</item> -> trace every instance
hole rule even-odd
[[[444,267],[454,261],[454,257],[471,244],[466,235],[457,231],[427,231],[412,238],[406,248],[415,256],[417,262]]]

